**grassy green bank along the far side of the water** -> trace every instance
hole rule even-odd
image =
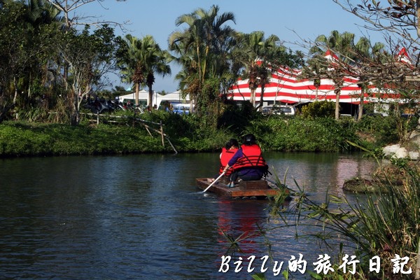
[[[347,140],[370,148],[375,145],[372,139],[360,137],[360,123],[351,119],[257,116],[241,123],[225,121],[215,127],[197,116],[166,112],[143,114],[141,118],[146,123],[136,123],[132,119],[99,125],[86,120],[78,126],[3,122],[0,125],[0,156],[173,153],[171,144],[181,153],[218,151],[228,139],[240,139],[249,132],[257,136],[264,151],[351,151],[354,147],[349,146]],[[162,146],[160,134],[153,130],[153,124],[160,122],[167,136],[165,146]],[[154,128],[160,130],[158,126]]]

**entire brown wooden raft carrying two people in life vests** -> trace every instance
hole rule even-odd
[[[280,189],[271,188],[268,186],[267,181],[239,181],[235,188],[228,188],[226,183],[223,180],[214,183],[213,186],[209,188],[209,192],[216,193],[218,195],[223,195],[226,197],[256,197],[256,198],[265,198],[269,196],[278,195]],[[210,182],[207,178],[197,179],[197,186],[202,190],[205,190],[210,186]]]

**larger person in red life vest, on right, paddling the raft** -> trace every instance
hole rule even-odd
[[[261,148],[256,143],[253,134],[244,136],[243,145],[229,160],[223,171],[228,171],[230,167],[233,167],[230,184],[228,185],[230,188],[235,187],[235,181],[238,178],[244,181],[256,181],[267,173],[267,162],[262,158]]]

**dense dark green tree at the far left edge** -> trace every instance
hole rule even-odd
[[[2,1],[0,120],[16,104],[29,105],[34,84],[42,90],[50,83],[48,69],[57,53],[57,22],[57,10],[45,1]]]

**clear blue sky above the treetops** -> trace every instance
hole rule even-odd
[[[89,3],[77,13],[101,17],[102,20],[128,22],[127,33],[138,38],[152,35],[162,49],[167,49],[169,35],[179,28],[175,26],[176,18],[197,8],[209,10],[212,5],[218,5],[221,13],[234,13],[236,24],[230,26],[237,31],[249,33],[260,30],[266,36],[275,34],[292,50],[301,49],[294,42],[302,39],[313,41],[316,36],[330,34],[332,30],[350,31],[356,34],[356,40],[360,36],[370,36],[372,42],[384,41],[381,34],[367,33],[360,27],[363,25],[361,20],[332,0],[106,0],[102,6],[96,2]],[[116,33],[125,36],[119,29]],[[174,92],[178,85],[174,76],[178,71],[178,66],[172,65],[172,76],[157,77],[153,89]],[[114,86],[123,85],[118,78],[112,80]]]

